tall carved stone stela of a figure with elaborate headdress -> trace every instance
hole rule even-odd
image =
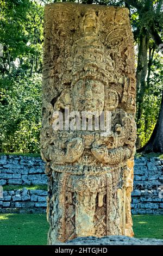
[[[126,8],[45,7],[41,155],[48,175],[48,243],[133,236],[134,43]],[[68,110],[67,110],[68,109]],[[54,129],[57,111],[63,129]],[[76,129],[71,112],[98,113]],[[110,132],[95,129],[110,113]],[[67,113],[71,126],[67,125]],[[77,118],[76,118],[77,120]]]

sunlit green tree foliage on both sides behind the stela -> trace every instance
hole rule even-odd
[[[124,0],[1,0],[0,152],[39,153],[43,8],[52,2],[127,6],[135,45],[139,43],[145,23],[152,24],[162,36],[162,1],[137,0],[135,2],[142,6],[139,11]],[[141,146],[148,141],[158,118],[161,85],[162,61],[155,53],[149,86],[142,102],[142,117],[137,120],[137,124],[141,124],[137,131]]]

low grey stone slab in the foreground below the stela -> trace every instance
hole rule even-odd
[[[55,243],[55,245],[163,245],[162,239],[131,238],[127,236],[104,236],[101,238],[89,236],[78,237],[66,243]]]

